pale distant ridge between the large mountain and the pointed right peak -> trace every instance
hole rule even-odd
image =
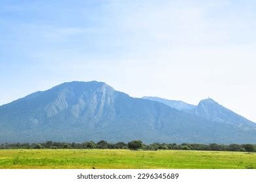
[[[191,110],[194,109],[196,106],[191,105],[189,103],[185,103],[184,101],[175,101],[175,100],[168,100],[163,98],[157,98],[157,97],[143,97],[142,99],[148,99],[151,101],[158,101],[160,103],[164,103],[165,105],[168,105],[169,107],[172,107],[177,110]]]

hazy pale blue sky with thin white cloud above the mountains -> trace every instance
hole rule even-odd
[[[256,1],[0,3],[0,105],[67,81],[215,99],[256,122]]]

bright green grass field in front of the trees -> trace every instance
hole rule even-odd
[[[125,149],[3,149],[0,168],[256,168],[256,153]]]

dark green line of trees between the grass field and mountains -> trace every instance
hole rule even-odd
[[[12,143],[1,144],[0,149],[183,149],[183,150],[206,150],[206,151],[256,151],[256,146],[253,144],[167,144],[153,143],[143,144],[140,140],[131,142],[109,143],[104,140],[99,142],[86,141],[82,143],[76,142],[41,142],[41,143]]]

